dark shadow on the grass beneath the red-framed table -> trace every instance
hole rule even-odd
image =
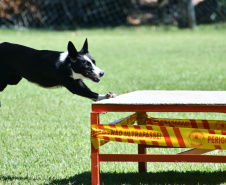
[[[222,184],[226,182],[226,171],[219,172],[155,172],[155,173],[101,173],[101,184]],[[91,184],[91,173],[84,172],[73,177],[53,180],[50,184]]]

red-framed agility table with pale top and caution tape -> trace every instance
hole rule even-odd
[[[135,112],[131,116],[100,124],[99,114]],[[200,155],[226,150],[226,120],[154,118],[147,112],[226,113],[226,91],[136,91],[92,104],[92,184],[100,184],[100,162],[226,163],[225,155]],[[135,123],[137,123],[135,125]],[[138,154],[101,154],[109,141],[138,144]],[[146,154],[146,148],[190,148],[178,154]]]

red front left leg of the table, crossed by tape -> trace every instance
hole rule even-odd
[[[91,127],[97,127],[99,124],[99,113],[91,113]],[[91,131],[92,133],[92,131]],[[93,142],[96,142],[97,148],[94,147]],[[91,139],[91,181],[92,185],[100,184],[100,142],[98,139]]]

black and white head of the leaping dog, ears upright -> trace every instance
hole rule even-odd
[[[67,49],[67,62],[72,70],[71,77],[73,79],[90,79],[99,82],[104,72],[96,66],[95,60],[90,56],[87,39],[79,52],[71,41],[68,42]]]

